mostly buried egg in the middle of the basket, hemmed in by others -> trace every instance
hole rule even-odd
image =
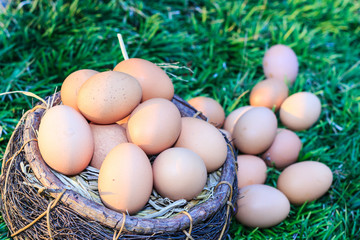
[[[100,169],[106,155],[120,143],[128,142],[125,128],[118,124],[98,125],[90,123],[94,138],[94,154],[90,166]]]

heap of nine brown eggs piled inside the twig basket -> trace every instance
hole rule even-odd
[[[115,211],[136,214],[154,189],[191,200],[224,164],[228,146],[215,126],[181,117],[173,96],[166,72],[144,59],[75,71],[62,84],[62,104],[41,118],[40,153],[64,175],[99,169],[100,199]]]

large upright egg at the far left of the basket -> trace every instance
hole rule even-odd
[[[45,112],[39,126],[38,144],[44,161],[65,175],[83,171],[94,151],[86,119],[66,105],[57,105]]]

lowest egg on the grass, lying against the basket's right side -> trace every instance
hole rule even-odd
[[[254,184],[240,189],[236,220],[249,227],[269,228],[282,222],[290,212],[286,196],[276,188]]]

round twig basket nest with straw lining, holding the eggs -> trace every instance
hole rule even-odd
[[[60,94],[47,102],[61,104]],[[206,118],[178,96],[172,102],[182,116]],[[207,189],[190,201],[169,201],[153,192],[135,216],[99,202],[96,170],[87,168],[75,181],[51,170],[42,159],[36,131],[45,111],[38,104],[19,121],[6,148],[0,178],[1,211],[15,239],[224,239],[238,195],[234,149]],[[85,180],[84,180],[85,179]],[[215,184],[214,184],[215,181]],[[82,190],[81,190],[82,189]],[[160,206],[161,205],[161,206]],[[157,209],[159,207],[159,209]],[[155,210],[154,210],[155,208]]]

